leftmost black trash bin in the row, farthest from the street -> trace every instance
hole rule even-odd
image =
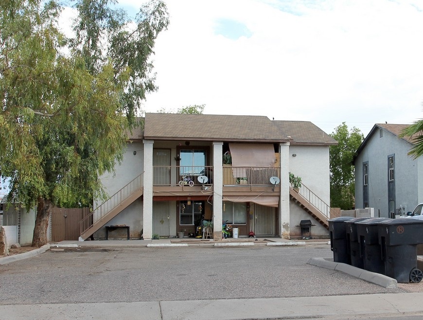
[[[351,258],[347,251],[347,225],[345,224],[345,221],[351,219],[353,219],[353,217],[328,219],[331,250],[334,252],[334,262],[351,264]]]

